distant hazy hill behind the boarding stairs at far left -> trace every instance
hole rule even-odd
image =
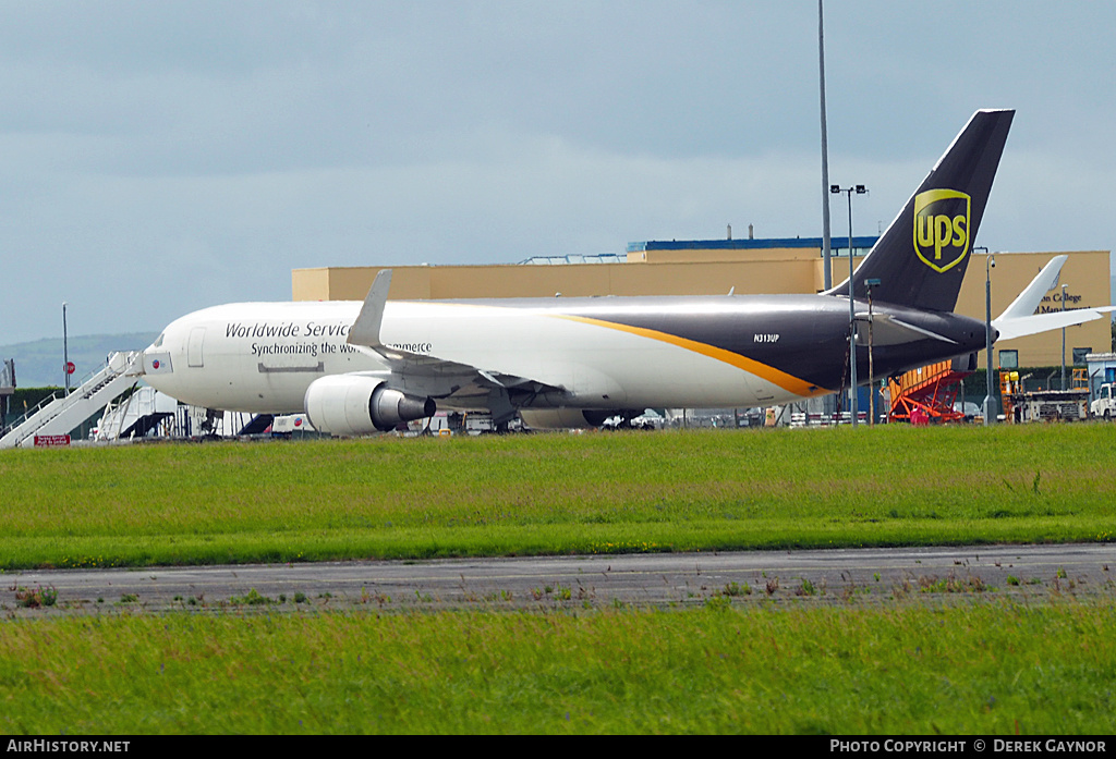
[[[68,340],[69,360],[77,367],[77,371],[74,372],[70,383],[76,387],[83,378],[105,366],[109,353],[143,350],[157,337],[157,332],[71,337]],[[0,360],[4,359],[16,359],[17,387],[61,387],[66,382],[66,377],[62,374],[61,338],[0,346]]]

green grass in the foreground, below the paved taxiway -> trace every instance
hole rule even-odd
[[[0,731],[1116,732],[1116,610],[105,615],[0,635]]]

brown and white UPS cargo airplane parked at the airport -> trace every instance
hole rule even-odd
[[[978,111],[852,282],[828,292],[408,302],[387,301],[387,270],[363,303],[235,303],[185,315],[145,350],[144,379],[209,409],[305,411],[338,436],[439,408],[485,410],[497,424],[518,412],[555,428],[645,408],[772,406],[847,385],[848,298],[866,319],[869,283],[876,377],[974,360],[984,322],[953,308],[1013,113]],[[1020,325],[1022,312],[1009,309],[993,338],[1100,318],[1071,311]],[[856,332],[865,344],[867,330]],[[855,353],[866,380],[868,351]]]

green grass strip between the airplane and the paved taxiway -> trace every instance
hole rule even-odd
[[[0,454],[0,568],[1109,541],[1116,426]]]

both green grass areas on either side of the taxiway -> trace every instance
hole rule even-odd
[[[1116,426],[0,454],[0,568],[1108,542]],[[7,733],[1116,731],[1110,594],[9,610]],[[935,597],[936,596],[936,597]]]

